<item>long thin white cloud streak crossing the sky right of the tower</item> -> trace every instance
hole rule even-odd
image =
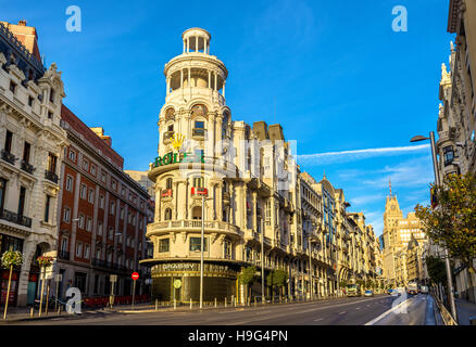
[[[366,149],[354,151],[327,152],[298,155],[299,165],[324,165],[348,163],[379,156],[400,155],[412,152],[428,151],[429,144],[408,145],[398,147]]]

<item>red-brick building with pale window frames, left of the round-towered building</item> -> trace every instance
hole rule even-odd
[[[147,191],[123,171],[124,159],[111,147],[102,128],[88,128],[66,106],[62,126],[70,146],[60,172],[58,273],[60,297],[70,286],[85,296],[131,294],[130,274],[139,272],[136,294],[148,294],[146,226],[151,209]]]

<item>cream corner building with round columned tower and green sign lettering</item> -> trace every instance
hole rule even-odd
[[[247,300],[238,273],[255,266],[261,275],[262,243],[265,277],[276,269],[289,274],[283,294],[339,295],[339,281],[353,274],[343,247],[352,233],[342,222],[350,204],[325,177],[304,195],[301,184],[310,179],[301,179],[308,174],[300,172],[280,125],[231,120],[228,72],[210,54],[210,42],[206,30],[186,30],[183,54],[164,68],[159,156],[148,174],[155,193],[154,222],[147,227],[153,256],[141,260],[151,267],[152,299],[200,300],[202,201],[205,303]],[[326,187],[330,205],[312,185]],[[324,220],[324,206],[333,218]],[[360,274],[375,277],[375,268]],[[260,279],[251,295],[261,295]]]

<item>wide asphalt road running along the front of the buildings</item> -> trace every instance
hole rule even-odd
[[[393,304],[393,301],[397,300]],[[251,308],[93,314],[74,319],[18,322],[32,325],[425,325],[431,323],[433,299],[417,295],[400,304],[401,297],[339,298],[326,301],[270,305]],[[393,307],[392,307],[393,306]],[[389,312],[389,310],[392,311]],[[406,312],[405,312],[406,310]],[[387,313],[386,313],[387,312]],[[383,316],[386,313],[385,316]]]

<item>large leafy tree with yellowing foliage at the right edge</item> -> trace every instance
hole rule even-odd
[[[476,272],[476,175],[449,175],[442,185],[430,184],[430,190],[435,208],[415,207],[423,231],[446,247],[450,257]],[[472,277],[469,282],[474,287]]]

